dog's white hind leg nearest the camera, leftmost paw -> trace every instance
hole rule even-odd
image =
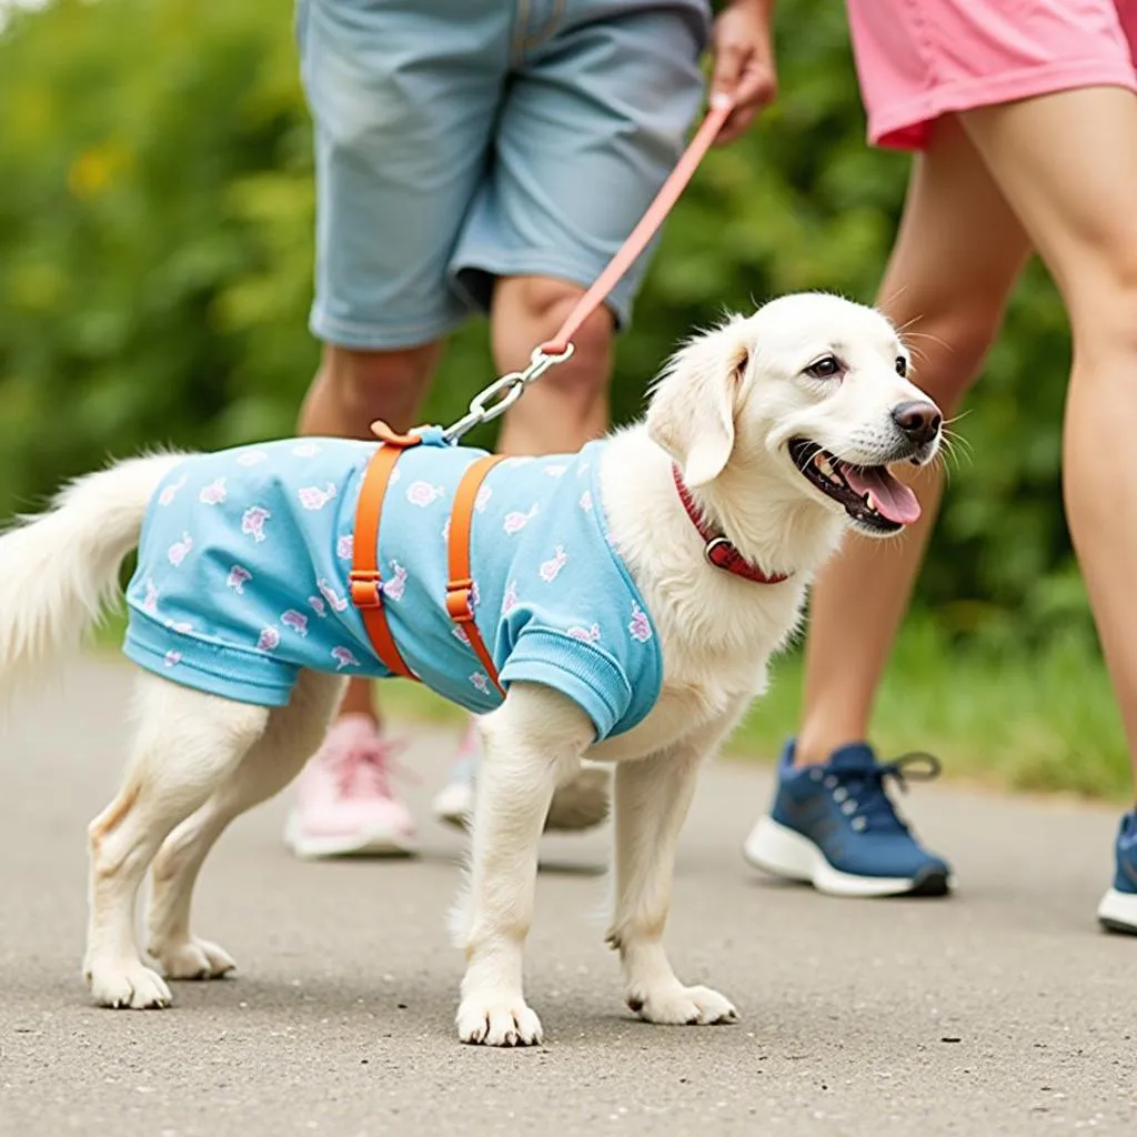
[[[214,792],[256,742],[265,707],[232,703],[143,673],[139,728],[123,789],[91,822],[84,974],[98,1003],[156,1007],[169,989],[139,957],[135,904],[169,831]]]

